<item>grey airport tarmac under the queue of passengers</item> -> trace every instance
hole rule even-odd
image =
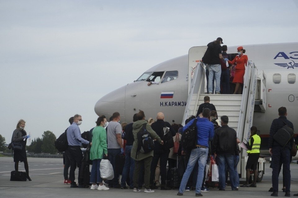
[[[32,181],[14,182],[10,181],[10,172],[14,170],[12,157],[0,157],[0,198],[76,198],[76,197],[109,197],[109,198],[134,198],[134,197],[176,197],[178,190],[156,189],[154,193],[133,192],[131,189],[114,189],[108,191],[90,190],[89,188],[70,188],[70,185],[63,184],[63,163],[57,158],[28,158],[29,175]],[[19,163],[19,170],[24,170],[24,164]],[[281,171],[282,173],[282,171]],[[76,170],[75,176],[77,178]],[[279,189],[282,188],[282,174],[279,177]],[[241,179],[244,182],[244,179]],[[239,191],[231,191],[227,186],[226,191],[219,191],[217,188],[210,188],[209,192],[202,192],[207,197],[264,197],[270,196],[268,192],[271,187],[271,169],[269,163],[266,164],[265,174],[262,182],[257,183],[256,188],[239,187]],[[291,164],[291,196],[298,191],[298,164]],[[194,197],[195,191],[184,192],[184,197]],[[284,193],[279,191],[279,196]]]

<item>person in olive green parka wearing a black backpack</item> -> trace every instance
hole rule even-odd
[[[153,139],[156,139],[156,141],[160,142],[161,144],[163,144],[164,142],[155,133],[155,131],[152,130],[151,126],[145,120],[144,111],[140,110],[138,112],[137,119],[138,121],[133,123],[134,142],[130,153],[131,157],[135,160],[135,169],[133,172],[133,191],[140,192],[140,189],[138,188],[138,178],[139,178],[141,166],[143,165],[145,169],[144,192],[154,192],[154,190],[150,189],[150,168],[151,168],[151,162],[153,158],[153,147],[154,147],[152,146],[153,142],[151,141]],[[148,145],[151,145],[152,148],[149,147]]]

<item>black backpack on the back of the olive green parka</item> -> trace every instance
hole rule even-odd
[[[150,133],[146,129],[146,124],[147,123],[143,124],[143,127],[137,134],[138,149],[137,149],[136,157],[137,157],[138,152],[149,153],[150,151],[153,151],[153,149],[154,149],[154,142],[153,142],[153,139],[152,139]]]

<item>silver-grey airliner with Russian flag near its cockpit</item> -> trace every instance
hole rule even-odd
[[[261,103],[266,106],[255,105],[253,125],[260,131],[261,154],[268,155],[269,130],[273,119],[279,117],[279,107],[287,108],[287,118],[294,124],[294,129],[298,128],[295,122],[298,117],[298,43],[242,46],[249,60],[255,63],[258,78],[262,75],[266,77],[266,90],[257,92],[259,95],[263,92],[266,101]],[[237,47],[228,47],[227,53],[235,56]],[[197,59],[200,60],[207,47],[197,48],[200,51]],[[107,118],[118,111],[121,121],[128,123],[132,122],[133,114],[138,110],[143,110],[147,118],[155,118],[158,112],[163,112],[170,124],[183,124],[194,66],[189,64],[188,55],[162,62],[145,71],[132,83],[100,98],[94,110],[97,115],[106,115]],[[153,83],[148,86],[151,81]],[[297,159],[296,155],[293,160]]]

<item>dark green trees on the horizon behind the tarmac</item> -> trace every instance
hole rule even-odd
[[[58,151],[55,148],[54,142],[56,140],[56,136],[52,131],[45,131],[43,132],[42,137],[34,138],[31,141],[29,146],[26,146],[26,150],[32,153],[49,153],[49,154],[56,154]],[[8,150],[6,144],[9,142],[5,141],[5,137],[0,135],[0,151],[3,152],[11,152]]]

